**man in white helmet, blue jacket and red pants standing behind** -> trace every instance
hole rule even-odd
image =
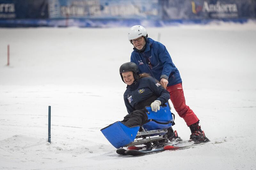
[[[171,56],[165,46],[148,38],[146,29],[139,25],[130,28],[128,39],[134,47],[131,62],[139,66],[140,73],[150,74],[170,92],[173,107],[191,130],[190,140],[207,142],[207,137],[199,126],[199,119],[185,103],[180,72],[172,63]],[[169,137],[172,137],[171,130]]]

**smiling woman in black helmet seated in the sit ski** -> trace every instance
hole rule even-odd
[[[124,103],[128,115],[122,121],[126,126],[143,125],[147,120],[146,106],[151,106],[155,112],[160,105],[168,101],[170,94],[160,83],[148,74],[140,74],[135,63],[128,62],[121,65],[120,76],[127,89],[124,92]]]

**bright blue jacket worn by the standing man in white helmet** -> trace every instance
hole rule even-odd
[[[148,73],[156,80],[168,80],[168,85],[177,85],[182,82],[180,72],[172,63],[172,59],[163,44],[147,38],[145,51],[139,53],[135,48],[131,55],[131,62],[136,63],[140,73]]]

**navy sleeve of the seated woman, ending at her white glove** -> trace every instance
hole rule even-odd
[[[170,99],[170,93],[156,79],[148,78],[148,85],[152,92],[159,96],[156,100],[161,101],[161,104]]]

